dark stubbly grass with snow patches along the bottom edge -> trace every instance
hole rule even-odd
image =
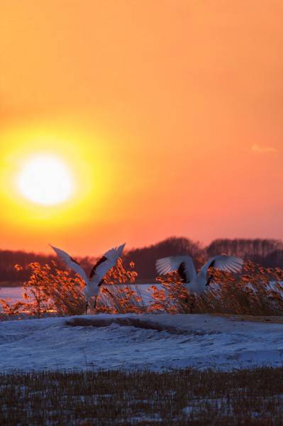
[[[283,368],[0,375],[0,425],[282,425]]]

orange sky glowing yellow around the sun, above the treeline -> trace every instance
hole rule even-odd
[[[1,0],[0,249],[282,239],[282,20],[281,0]],[[66,200],[24,194],[40,156]]]

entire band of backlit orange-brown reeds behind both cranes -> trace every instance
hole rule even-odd
[[[199,260],[201,264],[201,260]],[[9,303],[0,299],[2,312],[7,316],[23,312],[35,317],[43,315],[80,315],[84,312],[84,283],[78,275],[70,276],[57,268],[54,261],[40,266],[30,263],[30,278],[23,285],[23,301]],[[21,266],[16,266],[21,271]],[[178,273],[157,277],[157,284],[148,288],[145,303],[140,288],[135,285],[137,273],[131,262],[127,270],[121,259],[104,278],[104,285],[96,305],[96,312],[189,313],[194,303],[195,313],[231,315],[282,315],[283,270],[263,268],[245,263],[241,275],[233,275],[211,268],[213,284],[201,296],[189,294]]]

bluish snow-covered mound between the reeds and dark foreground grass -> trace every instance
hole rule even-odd
[[[210,315],[87,315],[0,323],[0,370],[282,366],[283,324]]]

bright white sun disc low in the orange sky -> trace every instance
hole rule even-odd
[[[73,193],[74,183],[67,164],[60,157],[37,154],[26,160],[18,173],[18,190],[37,204],[60,204]]]

